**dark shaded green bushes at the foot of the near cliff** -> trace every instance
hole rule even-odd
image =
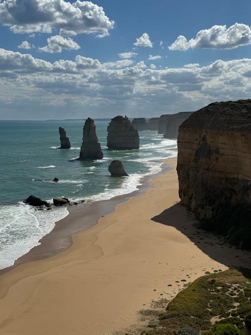
[[[251,205],[222,207],[210,220],[202,221],[200,228],[225,236],[225,242],[241,249],[251,249]]]

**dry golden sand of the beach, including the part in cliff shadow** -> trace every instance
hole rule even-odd
[[[171,299],[206,271],[250,267],[250,253],[198,231],[179,204],[176,159],[151,188],[116,205],[65,251],[0,277],[0,333],[110,334],[131,329],[138,311]],[[64,220],[81,220],[79,213]],[[176,281],[179,281],[177,283]],[[172,286],[168,286],[168,285]]]

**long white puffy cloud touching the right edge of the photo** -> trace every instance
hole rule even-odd
[[[226,26],[213,26],[210,29],[200,30],[195,38],[187,40],[180,35],[169,46],[169,50],[185,51],[189,48],[234,49],[241,45],[251,44],[251,29],[249,26],[235,23]]]

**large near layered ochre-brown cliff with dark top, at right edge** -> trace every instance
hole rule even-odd
[[[251,204],[251,100],[215,102],[179,128],[179,195],[199,219]]]

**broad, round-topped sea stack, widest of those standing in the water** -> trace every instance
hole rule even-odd
[[[111,119],[107,127],[107,147],[109,149],[139,149],[140,137],[127,117],[117,116]]]

